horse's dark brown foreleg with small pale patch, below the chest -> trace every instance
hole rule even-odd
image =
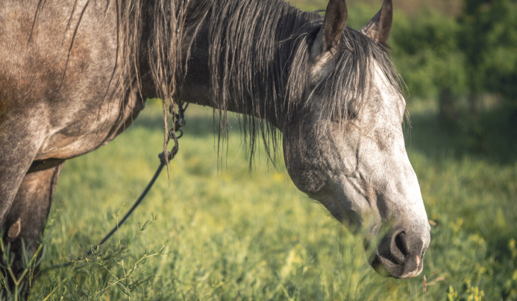
[[[28,267],[24,266],[27,263],[22,257],[26,256],[28,258],[25,259],[30,260],[38,249],[62,166],[63,164],[59,164],[50,169],[27,173],[11,205],[5,220],[3,237],[4,245],[10,245],[9,256],[14,257],[10,263],[11,271],[3,271],[9,279],[10,289],[18,281],[24,282],[24,287],[28,291],[27,280],[37,273],[37,266],[30,273],[25,271]],[[41,252],[37,254],[40,255]]]

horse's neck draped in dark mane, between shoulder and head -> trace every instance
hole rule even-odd
[[[187,13],[181,43],[186,72],[178,81],[178,98],[266,119],[282,129],[294,89],[293,57],[301,44],[296,37],[319,15],[282,0],[192,1]],[[305,83],[306,74],[298,76]]]

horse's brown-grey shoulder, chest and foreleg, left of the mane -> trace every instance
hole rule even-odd
[[[143,108],[135,90],[116,85],[116,14],[102,10],[0,5],[0,222],[17,273],[21,240],[28,254],[38,246],[61,163],[106,144]]]

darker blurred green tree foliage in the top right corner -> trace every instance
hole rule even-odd
[[[469,88],[517,101],[517,1],[465,0],[460,25]]]

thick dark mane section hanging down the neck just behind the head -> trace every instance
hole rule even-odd
[[[276,154],[276,124],[293,116],[305,92],[309,41],[320,19],[284,1],[211,3],[208,39],[212,99],[219,110],[220,133],[227,108],[238,108],[251,158],[262,137],[269,157]],[[222,130],[222,131],[221,131]]]

